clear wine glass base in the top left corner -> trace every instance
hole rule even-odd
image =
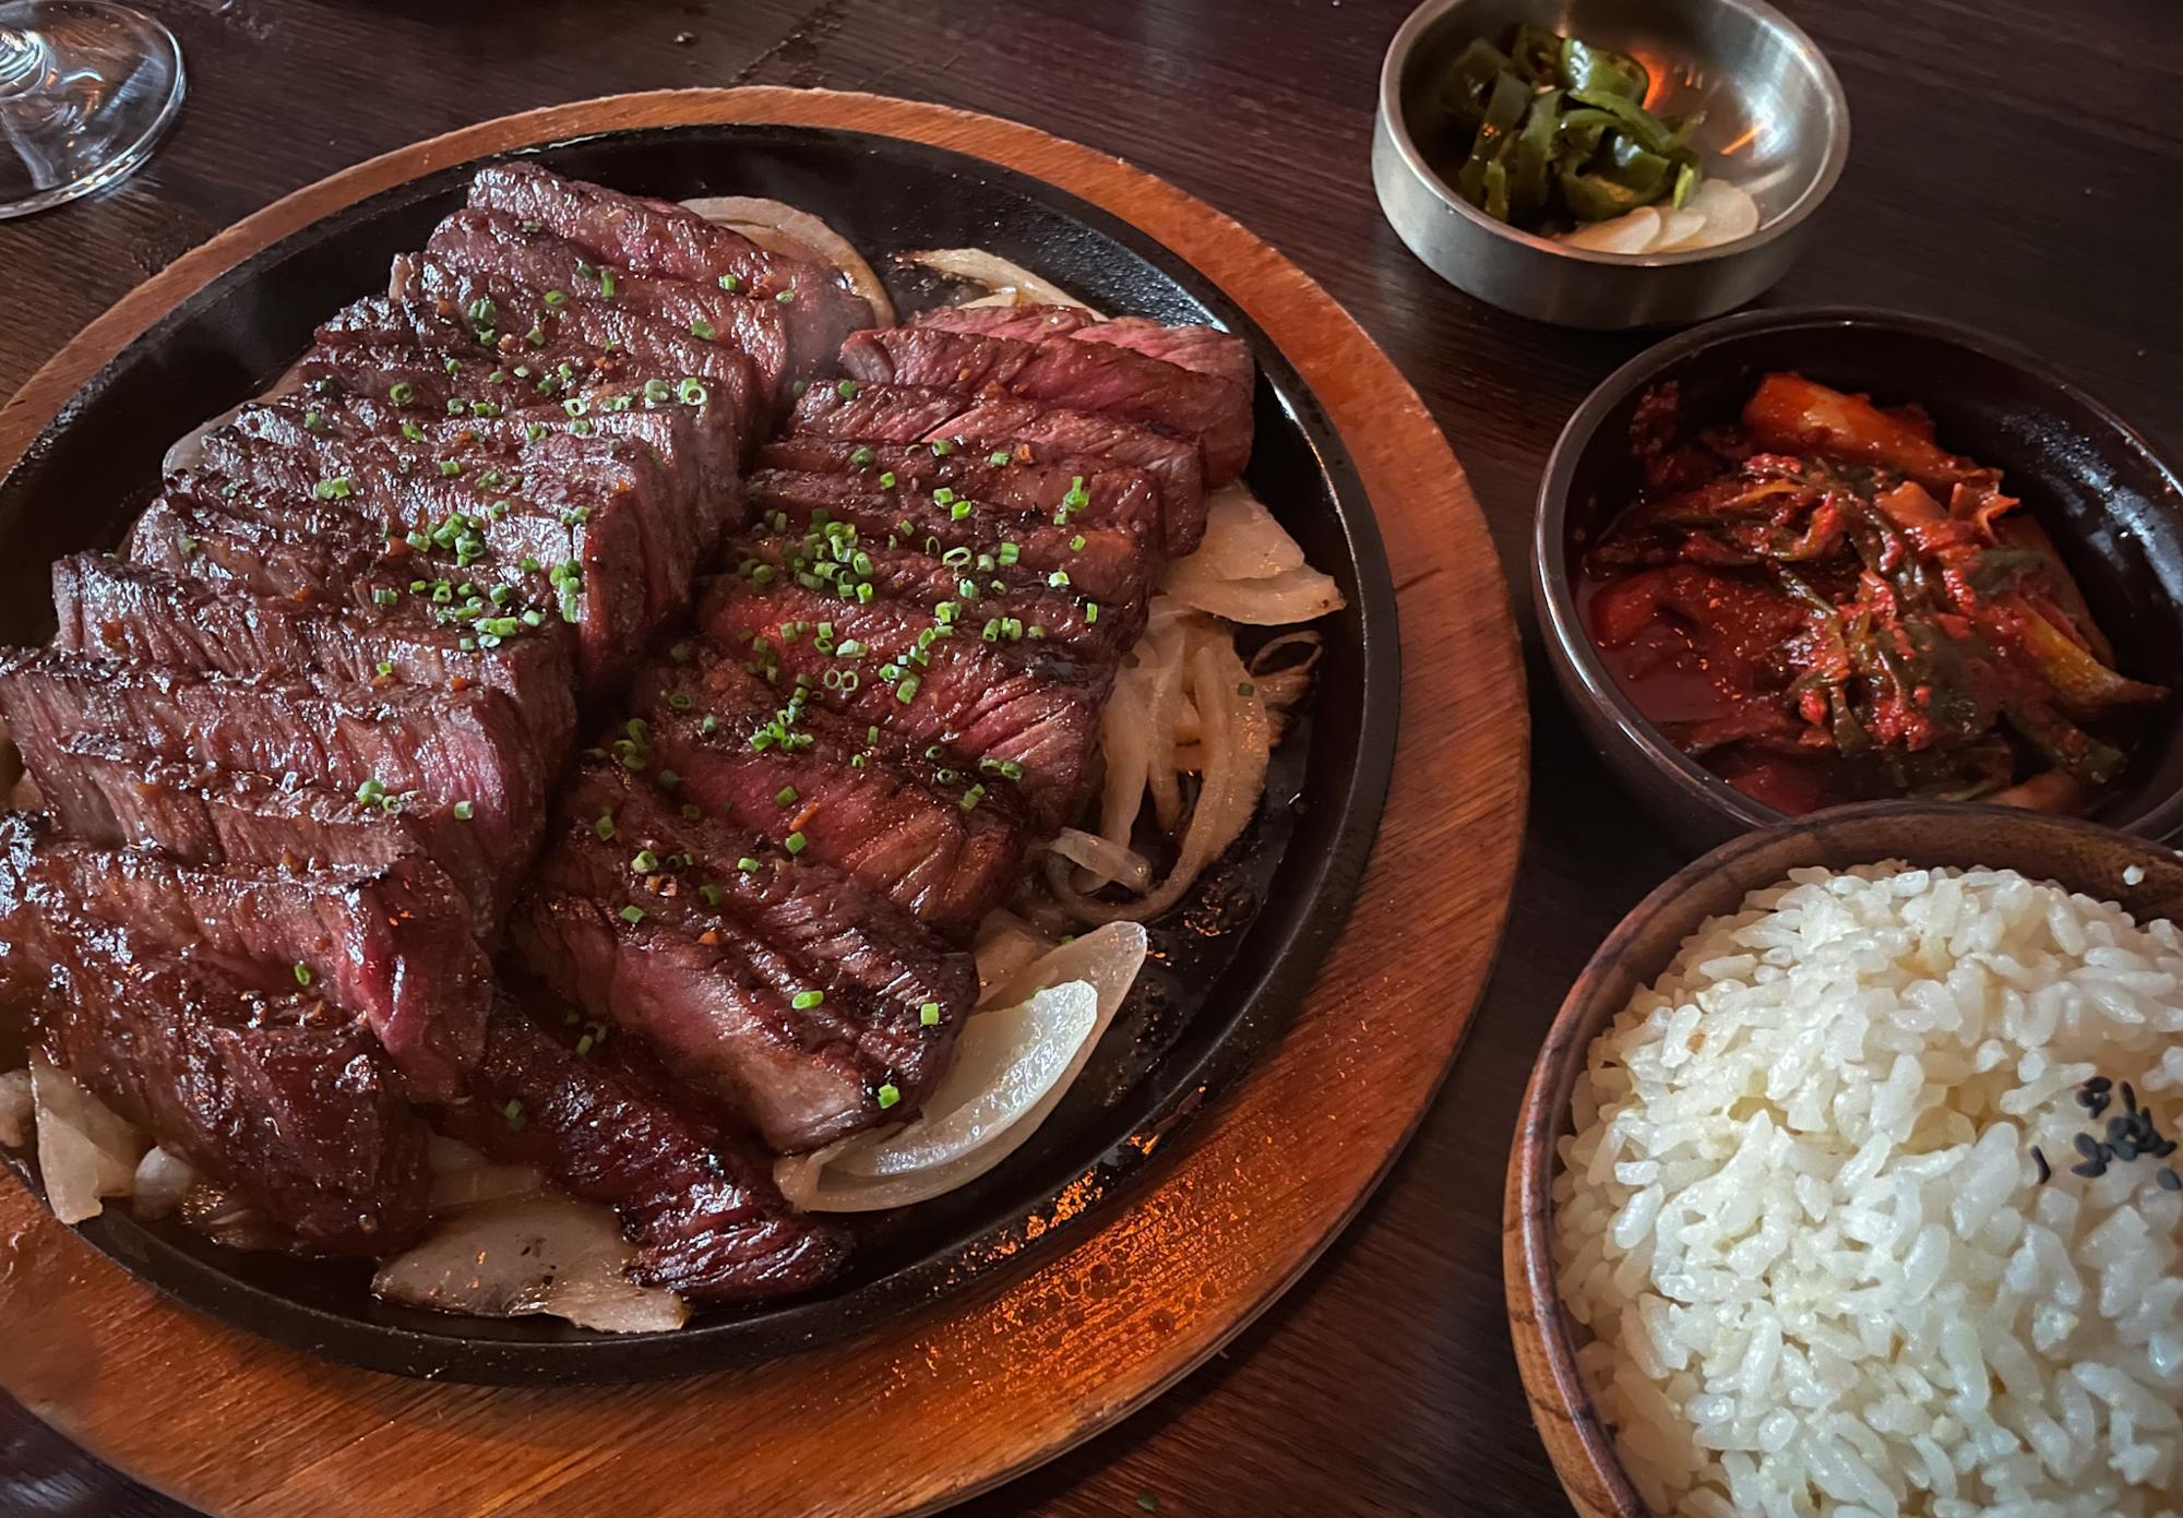
[[[44,48],[35,81],[0,85],[0,220],[129,177],[181,111],[181,48],[142,11],[15,0],[0,4],[0,26]]]

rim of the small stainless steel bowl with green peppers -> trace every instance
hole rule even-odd
[[[1768,242],[1786,238],[1812,214],[1825,205],[1827,196],[1834,194],[1836,181],[1842,177],[1842,166],[1849,161],[1849,96],[1842,92],[1842,81],[1836,79],[1834,65],[1827,55],[1818,50],[1818,44],[1788,20],[1781,11],[1766,4],[1766,0],[1711,0],[1729,11],[1742,11],[1751,15],[1759,26],[1766,26],[1794,44],[1797,55],[1814,72],[1821,85],[1821,96],[1827,100],[1825,131],[1827,131],[1827,155],[1818,166],[1818,174],[1799,192],[1786,212],[1775,216],[1770,222],[1762,222],[1757,231],[1746,238],[1735,238],[1733,242],[1720,242],[1709,249],[1690,249],[1683,253],[1600,253],[1594,249],[1572,249],[1565,242],[1554,242],[1552,238],[1541,238],[1508,222],[1493,220],[1476,205],[1454,194],[1447,181],[1441,179],[1430,164],[1425,164],[1423,153],[1417,150],[1417,142],[1410,137],[1410,122],[1401,113],[1401,72],[1417,50],[1417,39],[1428,26],[1439,22],[1450,11],[1467,4],[1467,0],[1423,0],[1410,17],[1395,33],[1395,39],[1386,46],[1386,57],[1380,63],[1380,107],[1377,124],[1386,133],[1388,146],[1401,157],[1404,168],[1417,179],[1425,190],[1432,192],[1434,201],[1443,207],[1467,218],[1476,227],[1493,233],[1504,242],[1515,242],[1517,246],[1546,253],[1548,257],[1565,257],[1576,264],[1594,264],[1598,268],[1677,268],[1681,264],[1707,264],[1733,253],[1749,253],[1762,249]]]

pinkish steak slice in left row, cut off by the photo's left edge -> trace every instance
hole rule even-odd
[[[482,689],[282,687],[31,652],[0,663],[0,711],[63,816],[96,816],[103,805],[79,776],[74,739],[111,737],[155,759],[295,774],[338,796],[386,798],[434,824],[474,829],[496,870],[520,870],[533,855],[546,781],[559,766],[559,755],[537,750],[506,696]]]

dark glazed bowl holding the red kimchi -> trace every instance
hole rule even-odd
[[[1705,848],[1781,814],[1637,713],[1578,613],[1583,554],[1637,493],[1629,423],[1639,395],[1674,380],[1685,425],[1729,421],[1777,369],[1864,390],[1882,406],[1923,406],[1945,449],[1997,467],[2004,489],[2048,528],[2122,670],[2183,689],[2183,482],[2126,421],[2030,353],[1921,316],[1729,316],[1639,353],[1576,408],[1548,460],[1532,528],[1532,598],[1563,696],[1594,750],[1679,838]],[[2150,715],[2093,820],[2146,838],[2183,827],[2179,711],[2183,698]]]

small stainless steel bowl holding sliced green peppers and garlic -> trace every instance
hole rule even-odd
[[[1434,172],[1439,83],[1471,37],[1530,22],[1653,70],[1646,105],[1705,111],[1707,172],[1751,192],[1759,229],[1694,253],[1589,253],[1498,222]],[[1653,327],[1735,310],[1797,260],[1805,225],[1849,157],[1849,103],[1821,50],[1762,0],[1425,0],[1380,68],[1371,177],[1401,240],[1460,290],[1563,327]]]

